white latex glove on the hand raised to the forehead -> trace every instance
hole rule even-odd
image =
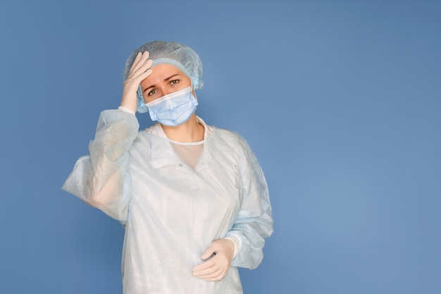
[[[151,63],[153,61],[149,59],[149,51],[139,52],[130,68],[128,78],[124,82],[123,98],[121,99],[120,106],[132,110],[133,113],[136,112],[138,106],[136,92],[139,83],[151,75]]]

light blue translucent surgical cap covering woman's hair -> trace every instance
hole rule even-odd
[[[204,86],[204,80],[202,80],[202,62],[196,52],[190,47],[176,43],[176,42],[163,42],[154,41],[142,45],[129,56],[125,61],[124,68],[124,81],[127,80],[130,68],[138,52],[149,51],[149,59],[153,60],[152,66],[158,64],[170,64],[179,68],[182,73],[187,75],[192,80],[194,90],[201,89]],[[137,110],[140,113],[147,112],[149,109],[145,106],[144,98],[142,97],[141,85],[137,90],[138,107]]]

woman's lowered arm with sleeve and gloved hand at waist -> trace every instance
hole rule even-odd
[[[264,239],[273,233],[273,216],[263,171],[247,143],[242,142],[240,210],[225,238],[214,240],[201,256],[208,260],[193,268],[193,275],[205,281],[221,280],[230,266],[258,267],[263,259]]]

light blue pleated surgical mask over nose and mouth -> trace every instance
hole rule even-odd
[[[197,99],[192,94],[192,87],[186,87],[145,105],[149,108],[152,121],[174,127],[189,120],[196,110]]]

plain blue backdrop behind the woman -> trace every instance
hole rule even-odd
[[[61,185],[161,39],[266,173],[245,293],[441,293],[440,29],[440,1],[2,1],[0,292],[121,293],[122,226]]]

